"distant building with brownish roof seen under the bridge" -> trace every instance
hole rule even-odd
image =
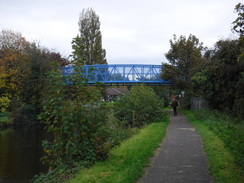
[[[127,88],[107,88],[106,89],[106,100],[113,102],[118,100],[120,97],[125,96],[130,91]]]

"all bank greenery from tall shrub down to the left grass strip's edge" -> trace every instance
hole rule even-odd
[[[62,182],[69,179],[80,168],[107,159],[109,151],[126,138],[128,131],[118,122],[107,121],[111,109],[101,103],[99,87],[89,87],[83,77],[82,64],[73,65],[74,72],[69,86],[55,63],[48,73],[49,87],[43,103],[44,121],[53,141],[44,141],[43,162],[51,171],[35,177],[34,182]]]

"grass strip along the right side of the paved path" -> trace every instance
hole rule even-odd
[[[244,182],[244,172],[236,162],[235,153],[227,148],[225,142],[235,143],[233,136],[229,136],[230,129],[224,130],[226,123],[222,122],[221,130],[217,128],[218,119],[200,117],[199,112],[183,111],[202,137],[204,150],[208,156],[210,174],[215,182],[242,183]],[[211,125],[211,127],[210,127]],[[238,133],[238,131],[236,131]],[[241,137],[243,140],[243,137]],[[230,144],[229,144],[230,145]],[[243,144],[240,144],[243,147]],[[241,148],[241,147],[240,147]],[[239,152],[240,153],[240,152]],[[241,154],[240,154],[241,156]]]

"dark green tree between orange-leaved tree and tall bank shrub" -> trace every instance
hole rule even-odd
[[[29,58],[30,73],[25,80],[25,91],[22,99],[26,104],[35,106],[37,114],[40,112],[40,106],[43,97],[47,93],[47,76],[51,70],[51,63],[57,61],[59,66],[68,64],[67,59],[62,58],[59,53],[41,47],[38,43],[32,42],[26,48]]]

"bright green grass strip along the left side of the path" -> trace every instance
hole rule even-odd
[[[89,169],[81,170],[70,183],[130,183],[139,179],[154,150],[162,142],[169,118],[152,123],[112,151],[111,157]]]

